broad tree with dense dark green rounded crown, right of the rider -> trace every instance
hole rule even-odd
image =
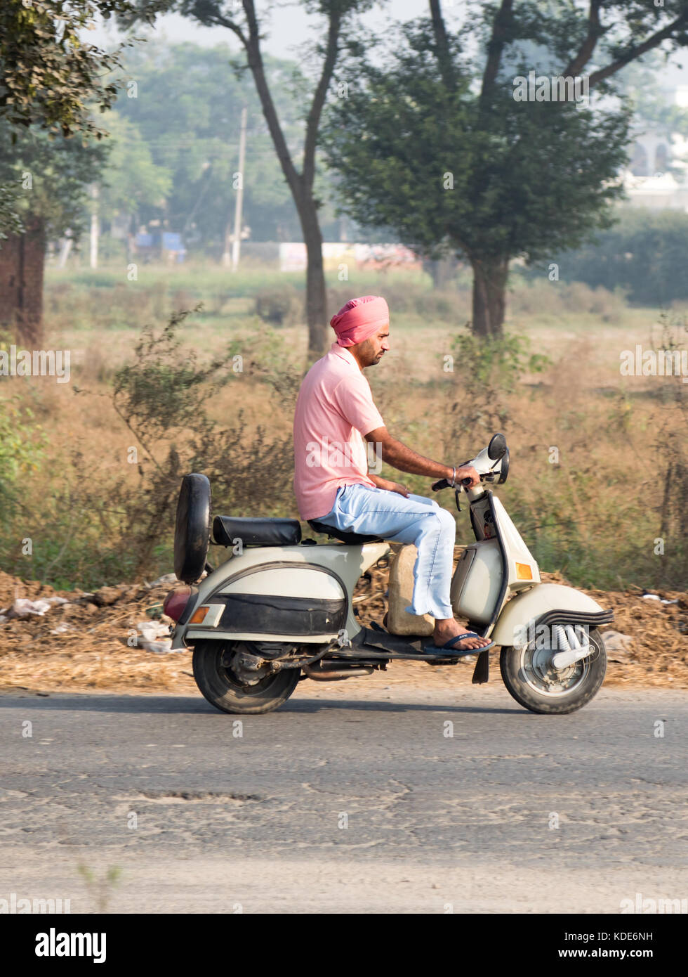
[[[466,258],[473,330],[499,335],[509,261],[546,259],[609,225],[629,121],[610,79],[650,50],[687,44],[688,0],[670,10],[653,0],[501,0],[470,5],[457,35],[429,0],[429,17],[376,59],[370,44],[351,46],[356,85],[325,127],[344,210],[430,258]],[[531,71],[579,76],[581,87],[562,98],[557,86],[554,101],[542,85],[534,101],[517,101],[516,80]],[[586,86],[609,98],[587,105]]]

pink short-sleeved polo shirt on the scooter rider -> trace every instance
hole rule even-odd
[[[374,483],[362,435],[384,427],[353,356],[333,343],[304,376],[294,414],[294,491],[302,519],[326,516],[340,486]]]

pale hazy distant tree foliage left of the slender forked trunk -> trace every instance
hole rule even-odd
[[[171,175],[164,214],[145,201],[142,217],[164,216],[170,226],[205,244],[222,241],[233,208],[241,109],[248,107],[243,173],[245,223],[258,239],[294,239],[299,218],[263,120],[255,86],[232,70],[226,45],[163,46],[150,40],[124,59],[124,84],[115,106],[130,127],[112,133],[131,142],[134,132],[154,165]],[[303,138],[290,88],[297,66],[265,59],[290,145]],[[131,86],[136,85],[134,90]],[[136,91],[136,97],[130,93]],[[333,212],[329,211],[332,218]]]

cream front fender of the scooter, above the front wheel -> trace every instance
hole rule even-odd
[[[558,617],[557,612],[563,619],[568,613],[574,622],[591,626],[607,623],[614,616],[575,587],[539,583],[506,603],[490,637],[496,645],[523,648],[533,640],[536,623],[550,614]]]

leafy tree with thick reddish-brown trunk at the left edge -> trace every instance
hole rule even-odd
[[[130,6],[129,0],[0,5],[0,315],[26,341],[37,341],[41,331],[46,233],[75,222],[83,182],[101,163],[89,141],[106,135],[93,111],[111,106],[117,93],[108,74],[124,45],[108,54],[82,35],[97,15],[123,15]]]

